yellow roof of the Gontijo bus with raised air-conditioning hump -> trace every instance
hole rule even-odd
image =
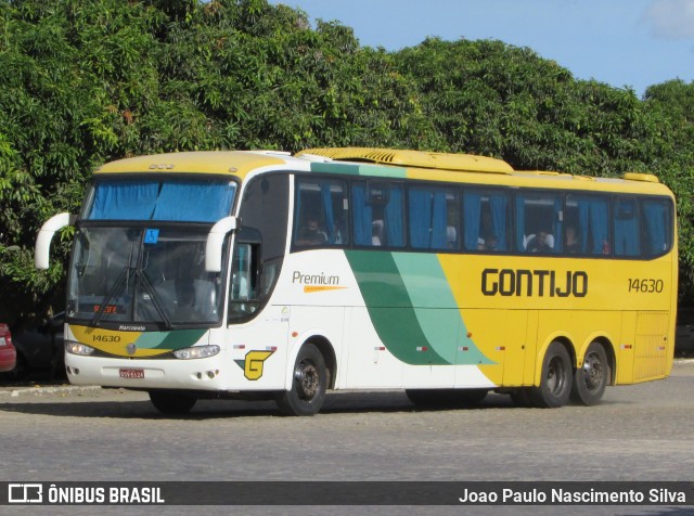
[[[556,188],[671,195],[648,173],[595,178],[541,170],[514,170],[501,159],[471,154],[375,147],[307,149],[292,156],[279,151],[200,151],[154,154],[106,163],[105,173],[209,173],[244,180],[258,170],[313,171],[364,177],[468,182],[498,186]]]

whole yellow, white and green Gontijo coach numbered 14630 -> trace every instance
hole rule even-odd
[[[672,366],[674,198],[657,178],[517,171],[385,149],[108,163],[75,224],[73,384],[317,413],[329,389],[415,404],[592,405]]]

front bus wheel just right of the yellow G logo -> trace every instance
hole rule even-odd
[[[305,344],[296,357],[291,390],[277,396],[283,415],[313,415],[325,400],[327,372],[323,356],[312,344]]]

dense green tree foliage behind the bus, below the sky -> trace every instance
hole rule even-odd
[[[100,163],[213,149],[393,146],[655,173],[679,197],[686,298],[693,114],[694,83],[639,99],[493,40],[386,52],[267,0],[0,0],[0,319],[61,305],[70,233],[38,272],[36,232],[78,209]]]

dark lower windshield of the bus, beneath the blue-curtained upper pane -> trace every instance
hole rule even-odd
[[[67,315],[100,323],[166,327],[214,324],[221,280],[205,271],[208,228],[81,228]]]

